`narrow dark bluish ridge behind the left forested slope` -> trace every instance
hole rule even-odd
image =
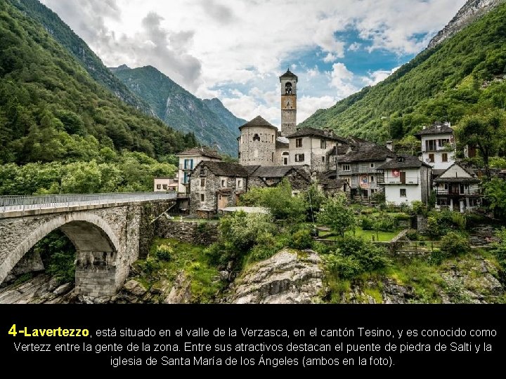
[[[139,99],[117,77],[109,71],[98,56],[91,51],[88,45],[75,34],[70,27],[63,22],[56,13],[51,11],[38,0],[9,0],[28,17],[37,20],[44,25],[44,29],[53,36],[63,47],[67,49],[80,65],[86,69],[90,76],[98,83],[108,88],[124,102],[140,109],[146,114],[153,115],[146,102]]]

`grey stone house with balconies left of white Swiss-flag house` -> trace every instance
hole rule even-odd
[[[387,147],[372,142],[350,141],[346,154],[337,158],[337,178],[348,182],[351,198],[370,197],[382,189],[378,185],[376,170],[382,164],[396,158],[396,154]]]

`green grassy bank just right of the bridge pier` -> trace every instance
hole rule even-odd
[[[168,245],[173,249],[168,260],[156,258],[157,248],[161,245]],[[177,239],[156,238],[148,258],[138,260],[136,265],[144,273],[138,278],[139,281],[148,288],[161,286],[164,281],[171,284],[184,272],[190,279],[192,302],[212,302],[216,293],[223,288],[223,283],[218,279],[218,269],[209,264],[205,246],[188,244]]]

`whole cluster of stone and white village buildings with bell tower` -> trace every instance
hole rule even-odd
[[[391,142],[377,145],[330,130],[297,128],[297,75],[279,77],[281,129],[261,116],[240,126],[239,163],[222,161],[215,150],[200,146],[179,157],[174,178],[155,178],[154,190],[176,191],[179,208],[209,218],[238,204],[252,187],[271,187],[286,178],[293,194],[313,182],[325,194],[344,192],[350,199],[372,199],[400,206],[422,201],[432,191],[436,208],[464,212],[481,204],[479,176],[455,160],[453,128],[436,122],[415,134],[418,156],[396,154]],[[474,149],[465,149],[474,156]]]

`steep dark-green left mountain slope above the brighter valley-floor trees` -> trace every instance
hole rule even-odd
[[[37,18],[9,1],[0,17],[0,164],[165,157],[195,144],[119,100]]]

